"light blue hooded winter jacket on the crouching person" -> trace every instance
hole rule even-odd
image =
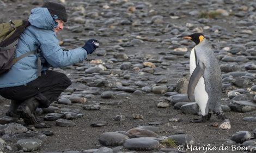
[[[82,47],[69,51],[63,51],[60,48],[54,32],[57,25],[47,8],[32,9],[28,21],[31,25],[21,34],[15,57],[39,48],[41,71],[50,67],[69,66],[86,59],[87,51]],[[37,68],[35,54],[22,58],[13,65],[9,72],[0,75],[0,88],[15,87],[33,81],[38,77],[36,76]]]

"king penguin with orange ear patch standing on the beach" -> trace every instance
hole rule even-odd
[[[218,118],[227,119],[221,109],[222,76],[218,60],[212,51],[208,40],[202,33],[181,35],[178,38],[191,39],[196,43],[190,53],[190,81],[187,95],[193,96],[200,107],[202,118],[192,120],[193,123],[202,123],[210,120],[211,113]]]

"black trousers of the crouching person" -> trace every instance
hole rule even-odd
[[[59,95],[71,85],[65,74],[46,70],[41,76],[27,84],[16,87],[0,88],[0,95],[5,99],[25,101],[35,97],[41,108],[48,107]]]

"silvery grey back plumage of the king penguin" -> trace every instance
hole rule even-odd
[[[208,108],[217,111],[220,109],[222,96],[222,76],[218,60],[205,38],[195,47],[195,52],[197,63],[203,63],[205,66],[203,77],[205,90],[209,95]]]

